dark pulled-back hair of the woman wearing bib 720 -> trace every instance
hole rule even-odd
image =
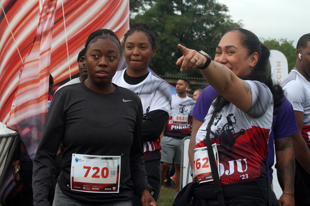
[[[86,40],[85,52],[87,51],[89,44],[96,42],[98,39],[110,39],[111,41],[115,42],[119,49],[119,53],[121,54],[121,42],[119,41],[116,34],[110,29],[98,29],[92,32]]]

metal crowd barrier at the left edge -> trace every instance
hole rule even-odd
[[[19,141],[18,132],[0,135],[0,185]]]

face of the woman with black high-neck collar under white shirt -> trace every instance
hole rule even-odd
[[[148,64],[155,53],[156,49],[152,49],[152,44],[144,32],[135,31],[127,37],[123,54],[128,69],[147,70]]]

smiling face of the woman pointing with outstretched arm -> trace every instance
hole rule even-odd
[[[256,54],[248,55],[248,49],[241,45],[238,32],[228,32],[216,47],[214,61],[228,67],[238,77],[245,77],[252,73],[251,69],[257,63]]]

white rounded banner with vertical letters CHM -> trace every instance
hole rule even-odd
[[[285,55],[278,50],[272,49],[270,50],[269,61],[272,79],[281,84],[288,74],[288,65]]]

